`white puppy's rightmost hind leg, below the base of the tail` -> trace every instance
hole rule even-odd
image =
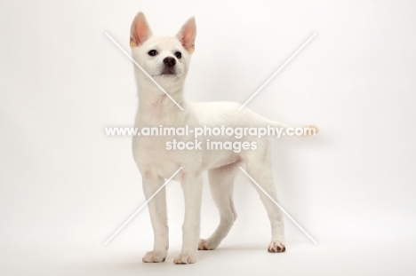
[[[273,171],[271,163],[271,140],[264,139],[258,143],[257,151],[247,151],[244,153],[244,162],[247,173],[268,193],[273,200],[277,201],[276,188],[273,181]],[[281,209],[275,202],[253,184],[260,195],[270,220],[272,239],[268,245],[268,252],[284,252],[284,217]]]

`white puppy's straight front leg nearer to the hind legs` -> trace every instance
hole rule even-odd
[[[201,201],[203,177],[200,172],[183,172],[181,181],[185,198],[185,219],[182,225],[182,250],[175,264],[196,262],[201,228]]]

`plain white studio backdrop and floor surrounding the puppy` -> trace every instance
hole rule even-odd
[[[412,1],[3,1],[0,8],[0,247],[4,275],[412,274],[416,266],[416,3]],[[239,217],[190,266],[180,250],[180,185],[167,186],[171,251],[142,264],[153,235],[131,138],[137,106],[129,30],[143,11],[155,34],[196,16],[186,95],[244,103],[310,35],[316,37],[248,105],[315,124],[278,139],[274,172],[287,252],[268,254],[268,218],[239,174]],[[207,185],[202,235],[218,224]]]

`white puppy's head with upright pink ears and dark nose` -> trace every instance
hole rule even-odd
[[[176,36],[156,36],[152,35],[143,12],[139,12],[132,21],[130,34],[132,58],[164,87],[182,85],[195,49],[195,38],[195,18],[190,18]],[[140,70],[136,72],[144,77]]]

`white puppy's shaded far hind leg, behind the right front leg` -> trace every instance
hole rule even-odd
[[[208,171],[212,198],[220,212],[220,225],[211,237],[199,241],[199,250],[212,250],[219,246],[227,236],[236,220],[236,209],[233,202],[234,177],[239,162]]]

